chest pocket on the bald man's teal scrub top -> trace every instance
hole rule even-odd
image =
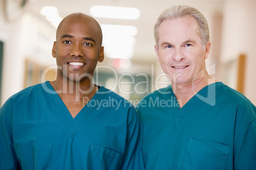
[[[93,143],[88,157],[88,169],[117,169],[121,157],[122,154]]]

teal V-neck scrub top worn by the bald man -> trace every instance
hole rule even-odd
[[[44,82],[0,109],[0,169],[144,169],[142,133],[135,108],[109,89],[73,119]]]

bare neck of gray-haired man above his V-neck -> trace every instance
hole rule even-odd
[[[171,82],[173,93],[176,96],[180,108],[183,107],[197,92],[203,89],[205,86],[215,82],[210,75],[206,74],[203,77],[196,79],[193,82],[188,82],[184,84],[178,84]]]

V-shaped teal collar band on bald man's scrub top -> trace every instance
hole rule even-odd
[[[97,106],[96,100],[101,100],[106,93],[103,93],[106,91],[106,88],[101,86],[97,93],[92,97],[92,99],[85,105],[82,110],[76,115],[76,117],[72,117],[70,114],[68,108],[64,104],[64,102],[61,100],[60,96],[57,94],[55,89],[52,87],[50,82],[45,82],[46,88],[50,90],[50,93],[48,93],[48,96],[50,100],[52,100],[52,103],[56,106],[57,110],[59,110],[59,114],[62,117],[62,120],[64,121],[64,124],[66,124],[66,127],[68,128],[69,133],[71,136],[73,136],[76,132],[76,130],[81,126],[81,124],[89,117],[90,114],[92,114],[96,109],[94,109]],[[94,101],[95,107],[89,107],[90,102]]]

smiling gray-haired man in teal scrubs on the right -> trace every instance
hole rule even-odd
[[[206,18],[190,6],[172,6],[154,35],[171,85],[137,107],[146,169],[256,169],[256,107],[206,71]]]

